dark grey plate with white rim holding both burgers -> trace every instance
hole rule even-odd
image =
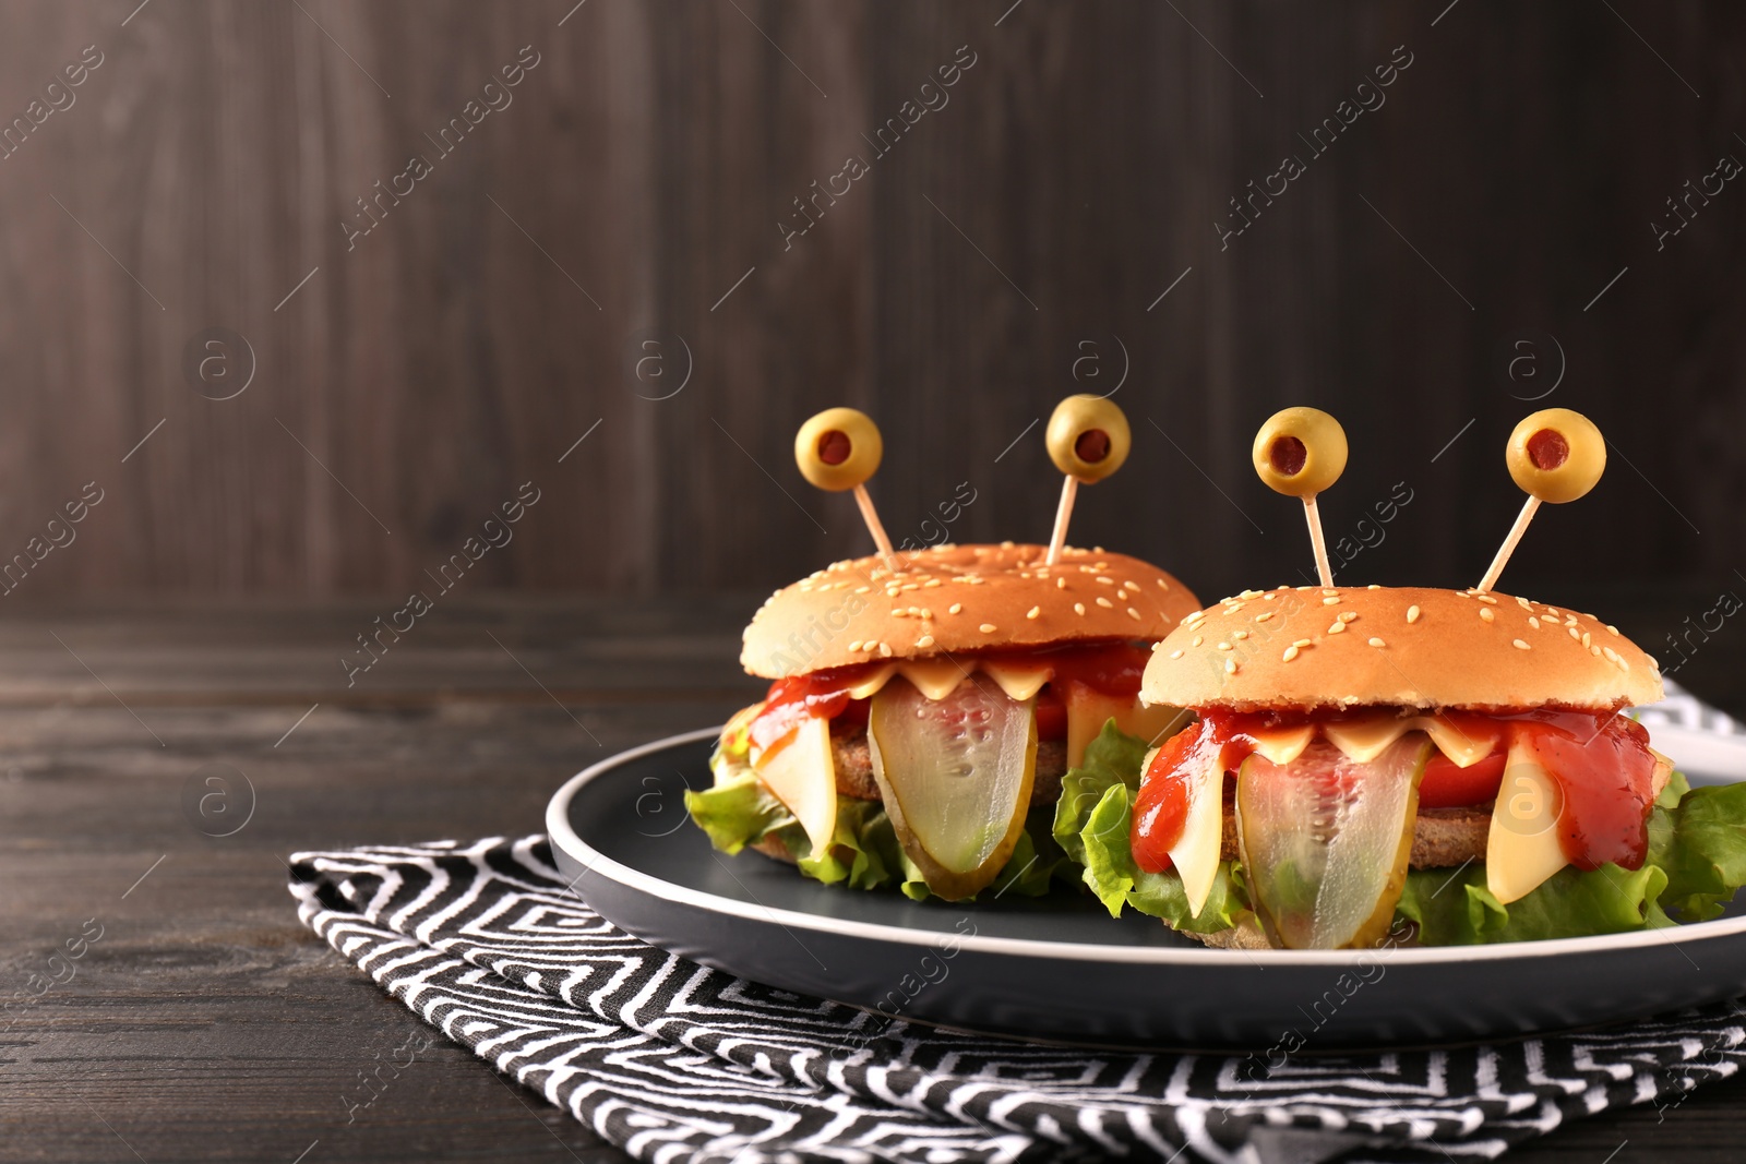
[[[643,941],[780,989],[1076,1044],[1350,1047],[1589,1026],[1746,995],[1746,916],[1549,942],[1224,951],[1090,895],[974,906],[723,857],[684,811],[718,729],[615,756],[546,808],[559,867]],[[1739,909],[1739,907],[1737,907]]]

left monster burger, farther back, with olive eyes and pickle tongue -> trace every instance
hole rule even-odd
[[[1091,421],[1119,464],[1128,431],[1112,408]],[[876,440],[861,414],[821,415],[821,431],[801,429],[803,468],[833,435]],[[726,724],[714,785],[686,805],[718,848],[828,883],[1042,892],[1060,859],[1049,813],[1093,736],[1114,722],[1154,740],[1186,721],[1144,707],[1140,677],[1151,644],[1198,606],[1170,574],[1102,550],[941,544],[836,562],[746,628],[740,663],[770,691]]]

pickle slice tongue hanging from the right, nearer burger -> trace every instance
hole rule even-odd
[[[1430,742],[1409,731],[1371,763],[1320,742],[1290,764],[1259,754],[1243,761],[1243,876],[1275,946],[1358,948],[1388,932],[1428,757]]]

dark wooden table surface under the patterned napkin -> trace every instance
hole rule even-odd
[[[339,658],[391,609],[0,620],[0,996],[101,925],[14,1010],[0,1159],[623,1159],[442,1040],[347,1126],[342,1092],[417,1019],[299,925],[285,859],[540,831],[578,768],[758,693],[735,663],[749,604],[454,602],[347,688]],[[185,810],[208,775],[237,813],[253,789],[232,836]],[[1512,1159],[1734,1161],[1743,1101],[1720,1084]]]

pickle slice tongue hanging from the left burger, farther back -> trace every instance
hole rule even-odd
[[[943,700],[906,679],[873,696],[868,747],[885,813],[941,897],[969,897],[1013,855],[1037,766],[1035,707],[981,674]]]

